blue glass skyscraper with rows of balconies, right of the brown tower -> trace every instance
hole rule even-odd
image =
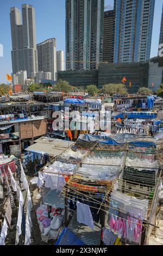
[[[115,63],[149,59],[154,4],[155,0],[115,0]]]

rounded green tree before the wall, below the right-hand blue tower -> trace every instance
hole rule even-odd
[[[114,94],[127,94],[128,90],[127,86],[122,83],[109,83],[105,84],[100,92],[112,96]]]

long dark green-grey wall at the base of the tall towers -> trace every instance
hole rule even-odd
[[[163,57],[155,57],[149,62],[136,63],[101,63],[98,70],[74,70],[58,72],[58,79],[66,80],[72,86],[96,84],[102,88],[108,83],[122,83],[127,79],[129,93],[135,93],[140,87],[149,87],[156,91],[163,82]],[[129,87],[131,82],[131,87]],[[154,83],[154,88],[152,88]]]

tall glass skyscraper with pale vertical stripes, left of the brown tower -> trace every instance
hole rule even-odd
[[[96,69],[102,61],[104,0],[66,0],[66,69]]]

